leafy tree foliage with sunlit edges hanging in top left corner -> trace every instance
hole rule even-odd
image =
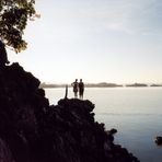
[[[27,20],[37,16],[35,0],[0,0],[0,40],[20,53],[27,43],[22,35]]]

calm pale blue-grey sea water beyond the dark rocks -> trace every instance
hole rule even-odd
[[[65,96],[65,89],[46,89],[50,104]],[[69,89],[68,97],[73,97]],[[95,120],[116,128],[115,143],[121,144],[141,162],[162,162],[162,88],[88,88],[84,99],[95,104]]]

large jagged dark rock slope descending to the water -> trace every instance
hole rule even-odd
[[[0,69],[0,162],[138,162],[94,120],[90,101],[49,106],[38,86],[18,63]]]

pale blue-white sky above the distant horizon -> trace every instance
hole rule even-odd
[[[36,0],[25,51],[8,49],[42,82],[162,83],[161,0]]]

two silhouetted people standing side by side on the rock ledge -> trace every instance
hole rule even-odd
[[[84,93],[84,83],[82,82],[82,79],[80,79],[80,82],[78,82],[78,79],[73,83],[71,83],[73,88],[73,93],[74,97],[78,97],[78,92],[79,92],[79,97],[83,100],[83,93]]]

